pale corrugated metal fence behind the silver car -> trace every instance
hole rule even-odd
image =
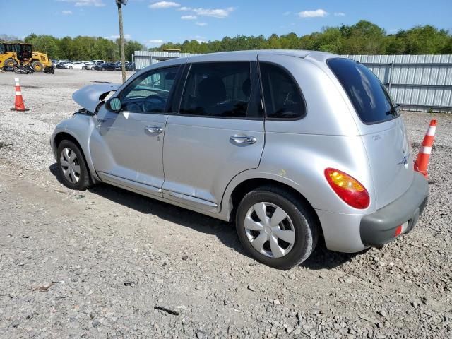
[[[135,52],[136,69],[190,53]],[[452,112],[452,54],[345,55],[366,65],[403,109]]]

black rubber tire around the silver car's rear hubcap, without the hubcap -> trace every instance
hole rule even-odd
[[[260,202],[271,203],[283,208],[292,220],[295,242],[285,256],[272,258],[261,254],[254,249],[246,235],[244,227],[246,213],[254,204]],[[240,242],[251,257],[273,268],[288,270],[305,261],[316,247],[319,239],[319,222],[313,214],[314,211],[307,206],[307,203],[300,201],[298,196],[276,186],[262,186],[246,194],[239,203],[235,225]]]

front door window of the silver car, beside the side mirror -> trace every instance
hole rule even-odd
[[[136,113],[162,113],[179,66],[146,73],[121,93],[122,109]]]

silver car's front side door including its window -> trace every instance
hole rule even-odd
[[[120,112],[100,109],[90,150],[102,180],[161,196],[165,112],[178,72],[172,66],[143,73],[116,95]]]

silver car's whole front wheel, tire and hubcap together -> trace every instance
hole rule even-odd
[[[57,151],[57,163],[59,178],[64,186],[84,191],[93,185],[83,153],[72,141],[61,141]]]

